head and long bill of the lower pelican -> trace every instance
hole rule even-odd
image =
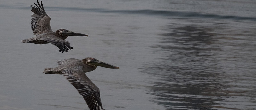
[[[87,65],[90,65],[90,66],[93,66],[93,67],[97,67],[97,66],[101,66],[101,67],[105,67],[105,68],[118,68],[119,67],[116,67],[116,66],[113,66],[111,64],[108,64],[108,63],[105,63],[105,62],[102,62],[102,61],[99,61],[95,58],[92,58],[92,57],[88,57],[88,58],[85,58],[83,59],[83,62]]]

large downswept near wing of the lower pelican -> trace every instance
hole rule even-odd
[[[102,108],[100,90],[85,75],[81,66],[62,70],[64,77],[78,90],[83,96],[90,110],[100,110]]]

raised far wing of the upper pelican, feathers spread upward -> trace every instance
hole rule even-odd
[[[45,31],[51,31],[50,21],[51,18],[46,14],[43,3],[41,1],[41,5],[37,0],[36,6],[32,6],[32,12],[34,14],[31,17],[35,17],[31,19],[31,29],[34,31],[34,34],[44,33]]]

